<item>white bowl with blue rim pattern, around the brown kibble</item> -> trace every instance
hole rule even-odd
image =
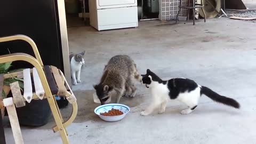
[[[118,115],[118,116],[102,116],[100,113],[105,113],[111,110],[112,108],[114,109],[119,109],[121,110],[124,114],[123,115]],[[94,113],[98,115],[101,119],[107,122],[116,122],[121,119],[123,119],[127,113],[129,113],[130,108],[126,105],[123,104],[118,104],[118,103],[109,103],[106,105],[101,105],[97,108],[94,109]]]

